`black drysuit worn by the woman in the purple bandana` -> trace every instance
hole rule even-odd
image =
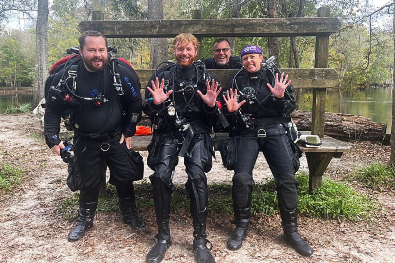
[[[239,91],[245,94],[239,97],[239,101],[248,97],[246,103],[241,106],[241,113],[254,120],[247,122],[248,127],[246,127],[240,121],[238,114],[229,113],[226,105],[223,106],[224,113],[228,115],[229,123],[231,123],[230,136],[235,140],[237,148],[235,173],[232,180],[235,223],[238,226],[245,226],[249,222],[252,186],[254,185],[252,170],[261,151],[276,181],[278,202],[284,224],[287,221],[284,220],[284,216],[289,218],[293,214],[296,215],[298,182],[295,178],[296,160],[290,148],[290,141],[284,124],[278,120],[290,115],[295,109],[293,88],[288,86],[283,98],[275,98],[267,87],[267,83],[274,87],[272,82],[274,76],[271,71],[261,68],[254,73],[243,70],[236,74],[234,73],[229,78],[223,94],[226,96],[227,90],[230,88],[234,90],[237,86],[238,94],[240,94]]]

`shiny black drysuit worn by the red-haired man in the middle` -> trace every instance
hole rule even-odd
[[[187,68],[181,68],[179,64],[163,67],[157,72],[159,82],[162,78],[168,80],[167,89],[173,89],[173,94],[164,103],[155,105],[149,90],[145,92],[144,113],[151,117],[153,124],[156,121],[155,118],[161,119],[160,128],[155,131],[148,146],[147,159],[148,166],[154,171],[150,180],[154,188],[158,239],[169,240],[170,196],[173,191],[174,169],[178,164],[179,155],[184,157],[185,170],[188,174],[185,187],[190,197],[194,237],[204,239],[206,235],[208,195],[205,173],[211,170],[212,156],[214,156],[213,141],[209,133],[211,117],[215,116],[217,105],[209,107],[196,92],[200,90],[203,94],[206,93],[206,83],[201,81],[202,74],[203,72],[194,64]],[[211,74],[209,76],[214,78]],[[148,86],[152,87],[151,80],[154,79],[155,75],[152,75]],[[184,90],[183,92],[182,88],[189,84],[196,85],[193,91]],[[167,114],[169,103],[175,107],[179,119],[184,119],[183,123],[190,125],[189,129],[178,131],[178,137],[175,116]]]

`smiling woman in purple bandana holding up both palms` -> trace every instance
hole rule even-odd
[[[228,248],[237,250],[247,236],[252,199],[252,169],[261,151],[276,181],[278,206],[284,239],[304,256],[313,253],[297,233],[298,160],[293,157],[284,123],[290,122],[295,109],[293,87],[288,75],[263,67],[263,54],[256,45],[241,50],[243,69],[234,73],[226,85],[222,107],[229,117],[230,137],[236,145],[233,165],[233,212],[236,230]]]

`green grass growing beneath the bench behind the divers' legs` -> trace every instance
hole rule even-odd
[[[322,188],[308,192],[308,175],[297,175],[299,180],[299,211],[308,216],[328,219],[347,219],[353,221],[368,219],[369,212],[374,209],[374,201],[366,195],[355,192],[340,182],[324,179]],[[138,207],[154,207],[152,186],[147,180],[135,184]],[[232,185],[209,185],[209,210],[215,214],[232,216]],[[107,184],[107,197],[101,197],[98,212],[119,211],[119,201],[114,186]],[[175,186],[171,196],[171,206],[178,212],[189,211],[189,197],[183,186]],[[64,199],[58,211],[67,220],[76,219],[78,195],[72,193]],[[273,215],[278,212],[277,192],[274,180],[266,184],[256,184],[252,194],[251,213],[253,215]]]

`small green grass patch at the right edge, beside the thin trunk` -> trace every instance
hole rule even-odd
[[[395,187],[395,167],[382,162],[366,165],[353,173],[352,179],[374,190]]]

